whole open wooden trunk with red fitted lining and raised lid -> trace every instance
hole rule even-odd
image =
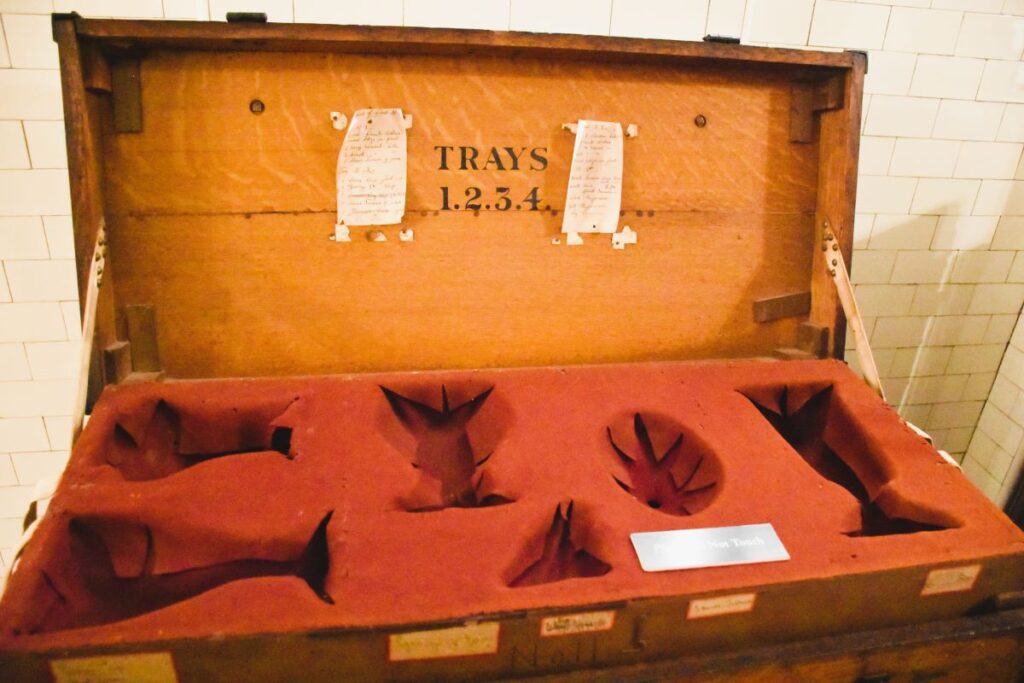
[[[864,54],[54,36],[93,410],[0,603],[14,679],[1024,667],[1024,535],[841,362]],[[413,117],[411,242],[330,239],[330,114],[366,108]],[[638,127],[626,250],[553,244],[578,120]],[[791,560],[652,573],[629,545],[758,522]]]

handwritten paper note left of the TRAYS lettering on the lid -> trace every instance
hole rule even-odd
[[[338,222],[393,225],[406,213],[406,118],[358,110],[338,155]]]

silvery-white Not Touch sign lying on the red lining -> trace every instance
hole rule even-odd
[[[790,559],[771,524],[631,533],[644,571],[755,564]]]

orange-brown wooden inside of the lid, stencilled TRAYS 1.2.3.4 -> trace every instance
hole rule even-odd
[[[114,75],[88,95],[105,346],[134,335],[133,353],[159,349],[159,369],[178,378],[761,356],[808,350],[808,323],[824,332],[811,352],[837,351],[840,318],[814,261],[823,218],[849,250],[854,55],[773,63],[760,48],[729,46],[758,59],[723,59],[724,46],[657,41],[711,56],[651,58],[566,52],[555,37],[467,50],[494,40],[476,32],[451,54],[417,49],[437,32],[407,32],[406,53],[378,54],[371,30],[347,31],[364,53],[87,42]],[[330,113],[390,106],[413,117],[400,227],[415,240],[387,226],[386,243],[352,228],[337,244],[344,133]],[[639,243],[625,251],[606,234],[552,244],[573,144],[562,124],[579,119],[638,126],[624,144],[620,227]],[[461,168],[461,147],[477,169],[473,152]],[[465,209],[470,188],[480,210]],[[141,360],[135,371],[156,370]]]

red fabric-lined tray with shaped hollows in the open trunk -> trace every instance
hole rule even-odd
[[[759,522],[792,560],[644,573],[629,542]],[[0,602],[0,646],[411,624],[1010,553],[1024,561],[1024,535],[835,361],[171,381],[103,393]]]

